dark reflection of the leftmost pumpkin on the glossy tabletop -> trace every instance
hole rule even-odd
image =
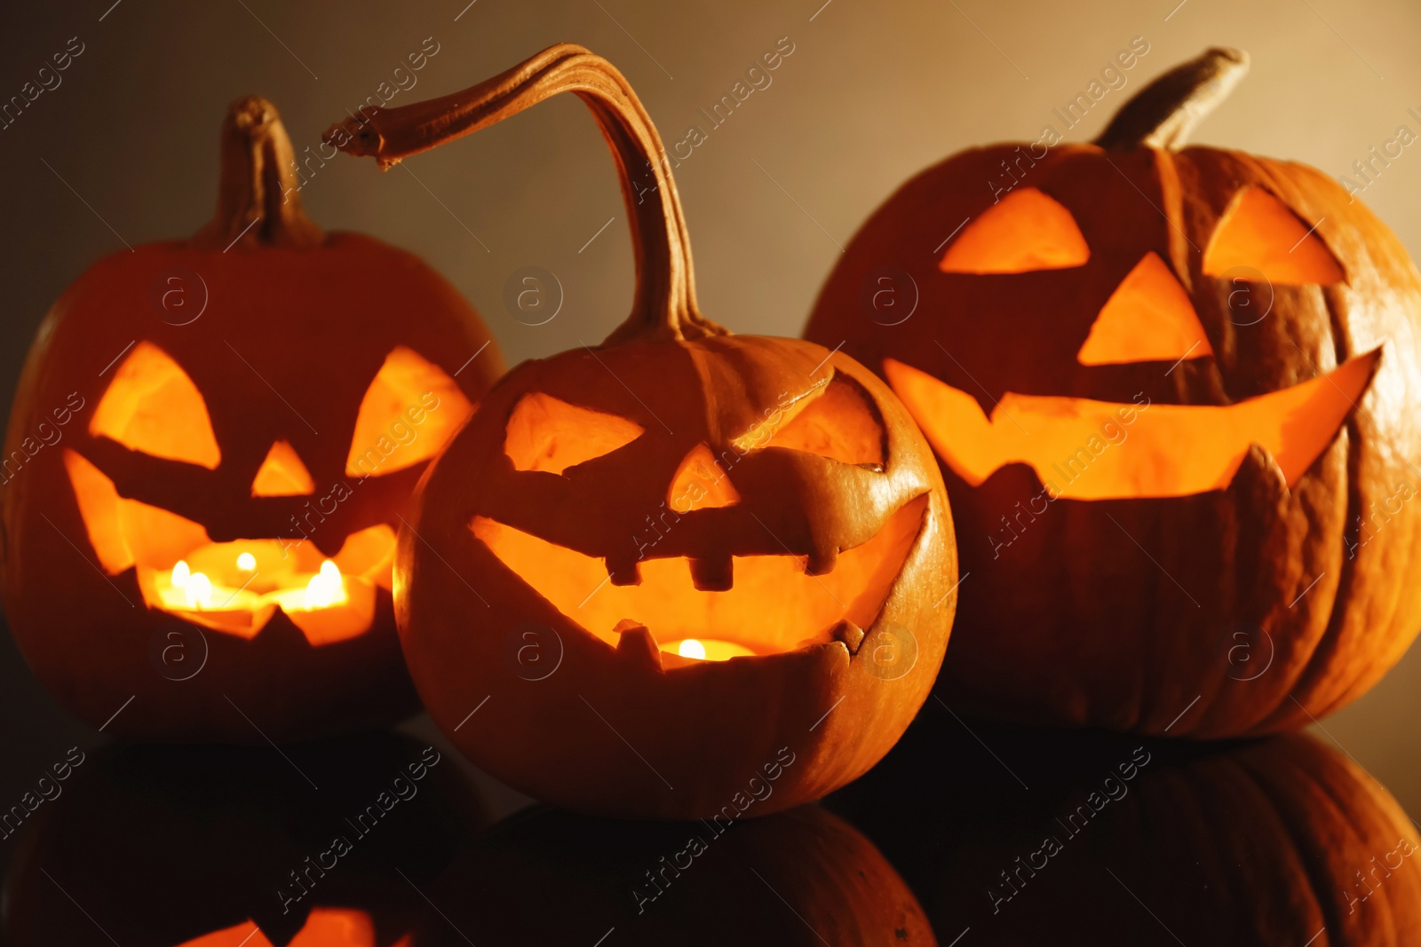
[[[483,799],[452,758],[396,734],[286,755],[134,747],[85,762],[17,842],[0,940],[411,947],[416,886],[487,822]]]

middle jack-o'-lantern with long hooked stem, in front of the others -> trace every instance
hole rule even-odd
[[[557,45],[328,138],[388,166],[564,91],[622,170],[634,310],[512,371],[431,467],[395,566],[405,657],[455,744],[537,798],[709,816],[787,748],[753,812],[787,808],[926,697],[955,601],[936,464],[853,359],[699,314],[661,142],[605,60]]]

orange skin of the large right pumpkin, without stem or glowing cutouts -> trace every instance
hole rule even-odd
[[[806,338],[843,342],[878,372],[919,369],[966,392],[983,415],[1000,400],[1003,427],[1032,399],[1131,412],[1148,402],[1133,432],[1117,423],[1108,443],[1093,432],[1103,449],[1091,447],[1086,463],[1125,456],[1154,422],[1151,410],[1158,417],[1177,405],[1270,396],[1349,359],[1363,366],[1363,395],[1349,399],[1336,436],[1292,486],[1277,457],[1242,442],[1236,474],[1218,487],[1053,500],[1043,481],[1064,483],[1059,463],[1084,437],[1057,453],[1056,467],[1003,463],[973,481],[949,456],[966,434],[897,389],[938,449],[969,576],[944,696],[1015,718],[1201,738],[1297,727],[1341,707],[1421,628],[1421,589],[1401,578],[1421,554],[1421,507],[1408,503],[1421,486],[1415,267],[1360,202],[1303,165],[1194,146],[1039,150],[972,149],[904,185],[854,237]],[[1006,177],[1003,160],[1020,162],[1019,177]],[[1013,193],[1034,189],[1059,202],[1088,261],[1034,273],[942,271],[953,251],[945,237],[993,207],[985,180],[1016,180]],[[1344,281],[1270,287],[1248,273],[1205,273],[1201,257],[1221,217],[1249,187],[1280,200],[1299,236],[1316,221],[1307,240],[1320,241]],[[1148,253],[1165,261],[1212,352],[1080,363],[1077,352],[1101,328],[1097,315]],[[895,325],[875,324],[861,304],[884,267],[911,275],[921,294]],[[1256,319],[1269,301],[1270,312]],[[1032,419],[1019,420],[1039,433]],[[1181,436],[1168,464],[1222,437],[1222,429],[1204,432],[1204,443]],[[1079,480],[1090,484],[1088,470]]]

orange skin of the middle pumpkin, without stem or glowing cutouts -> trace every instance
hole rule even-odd
[[[911,548],[898,554],[901,566],[881,609],[861,619],[865,636],[854,653],[848,643],[823,637],[824,625],[794,622],[797,630],[786,632],[777,653],[672,666],[672,656],[658,656],[649,645],[627,636],[620,646],[608,642],[615,613],[604,625],[578,623],[593,602],[578,609],[577,599],[605,579],[591,578],[560,609],[539,593],[533,576],[520,576],[469,528],[475,517],[496,517],[604,558],[608,568],[635,568],[637,537],[655,535],[647,515],[665,515],[662,503],[682,457],[708,432],[752,426],[773,405],[760,400],[767,392],[799,395],[807,371],[827,356],[817,345],[757,336],[624,344],[595,356],[568,352],[526,363],[490,393],[431,469],[395,572],[409,672],[431,716],[469,758],[568,808],[709,818],[752,779],[763,779],[762,768],[782,747],[796,761],[773,782],[773,794],[755,804],[756,814],[817,798],[867,771],[892,745],[926,699],[946,645],[951,613],[939,603],[951,586],[952,525],[921,434],[887,386],[851,359],[836,354],[827,365],[863,383],[882,412],[882,473],[777,450],[770,439],[770,447],[728,470],[739,504],[661,520],[664,538],[641,566],[642,584],[654,585],[662,581],[654,572],[658,562],[736,557],[739,578],[747,571],[740,557],[841,548],[834,569],[847,571],[850,548],[902,524],[911,528],[904,534]],[[698,363],[712,378],[733,372],[749,395],[718,396],[722,389],[702,381]],[[631,390],[659,392],[655,407],[642,407],[608,371]],[[647,442],[584,463],[566,478],[514,470],[503,454],[504,429],[530,392],[630,417],[647,429]],[[658,436],[657,417],[675,434]],[[716,454],[730,450],[712,447]],[[823,581],[837,578],[830,572]],[[645,620],[658,646],[681,637],[644,613],[621,618]],[[746,618],[753,623],[753,615]],[[719,637],[757,640],[753,628],[729,620],[722,628]],[[901,676],[874,663],[875,650],[907,646],[895,642],[897,629],[911,630],[917,650]],[[816,636],[817,643],[796,647]],[[486,696],[487,706],[460,727]]]

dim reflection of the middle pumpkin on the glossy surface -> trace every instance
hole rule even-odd
[[[418,947],[936,943],[884,856],[817,805],[729,828],[539,806],[475,839],[429,900]]]

